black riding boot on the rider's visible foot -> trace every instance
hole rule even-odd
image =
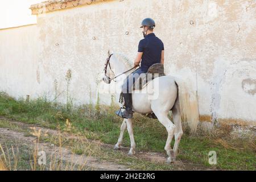
[[[133,118],[133,101],[131,100],[131,93],[123,93],[123,98],[125,99],[125,111],[121,109],[115,111],[115,114],[119,115],[122,118]]]

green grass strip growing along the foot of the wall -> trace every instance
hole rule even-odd
[[[101,140],[103,143],[115,144],[119,137],[119,127],[122,119],[113,114],[113,106],[82,105],[71,107],[67,110],[65,105],[49,102],[46,98],[38,98],[30,102],[14,100],[5,93],[0,93],[0,115],[6,118],[13,118],[18,121],[37,124],[50,129],[65,129],[65,121],[69,119],[72,123],[71,133],[81,133],[88,139]],[[135,114],[134,137],[138,151],[164,152],[164,145],[167,139],[166,129],[156,119],[144,118]],[[3,124],[0,124],[3,127]],[[226,136],[221,139],[228,144],[216,142],[217,137],[206,134],[198,134],[193,137],[185,132],[180,142],[178,158],[205,167],[212,167],[208,164],[209,151],[217,152],[217,165],[219,169],[241,169],[255,170],[255,141],[249,142],[246,139],[230,139]],[[173,143],[172,143],[173,144]],[[124,135],[124,146],[130,145],[129,135]],[[231,146],[231,147],[230,147]],[[77,154],[83,151],[77,148]],[[113,155],[112,151],[106,151]],[[114,153],[118,158],[117,153]],[[120,158],[122,163],[126,160],[133,161],[133,158]],[[154,166],[154,164],[148,164]],[[156,167],[168,169],[166,167]],[[152,169],[152,168],[151,168]]]

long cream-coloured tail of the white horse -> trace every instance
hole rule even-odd
[[[197,104],[196,93],[189,90],[183,80],[175,78],[178,88],[178,95],[175,104],[179,104],[181,117],[183,121],[187,122],[191,130],[191,134],[197,130],[199,124],[199,110]]]

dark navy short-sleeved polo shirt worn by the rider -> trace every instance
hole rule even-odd
[[[151,65],[160,63],[162,50],[164,50],[163,42],[154,33],[148,34],[139,42],[138,52],[143,52],[141,61],[143,72],[147,72]]]

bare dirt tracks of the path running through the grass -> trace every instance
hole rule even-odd
[[[0,122],[1,120],[9,121],[10,123],[13,123],[15,125],[18,125],[19,127],[26,129],[26,130],[31,130],[31,129],[36,129],[36,130],[41,130],[43,133],[48,133],[51,135],[58,135],[59,131],[56,130],[51,130],[51,129],[46,129],[44,127],[39,127],[36,125],[30,125],[27,123],[22,123],[19,121],[13,121],[12,119],[7,119],[4,117],[0,117]],[[34,140],[36,140],[36,137],[25,137],[22,132],[17,132],[17,131],[12,131],[10,129],[2,129],[0,128],[0,134],[1,135],[6,135],[7,137],[10,138],[16,138],[19,139],[23,142],[34,144]],[[76,135],[72,135],[70,133],[62,133],[61,135],[67,139],[79,139]],[[112,144],[105,144],[101,143],[96,140],[89,140],[89,142],[92,143],[97,143],[100,144],[101,147],[105,148],[110,148],[113,150],[113,145]],[[51,143],[39,143],[39,148],[44,148],[44,151],[46,151],[47,154],[51,155],[56,155],[56,158],[60,158],[60,151],[61,151],[61,158],[67,162],[72,162],[76,164],[83,165],[86,163],[86,166],[91,167],[93,169],[98,169],[98,170],[130,170],[130,168],[116,164],[113,162],[107,162],[107,161],[102,161],[98,160],[97,158],[94,158],[92,156],[82,156],[82,155],[76,155],[73,154],[68,148],[65,147],[56,147],[52,146]],[[122,147],[119,152],[122,152],[124,154],[127,154],[129,151],[129,148],[127,147]],[[136,154],[137,158],[144,159],[144,160],[149,160],[151,162],[157,162],[157,163],[162,163],[164,164],[166,162],[166,155],[160,152],[143,152],[139,151]],[[197,165],[197,164],[192,164],[189,162],[184,162],[181,160],[177,160],[174,164],[174,169],[175,170],[212,170],[209,168],[205,168],[203,166]]]

